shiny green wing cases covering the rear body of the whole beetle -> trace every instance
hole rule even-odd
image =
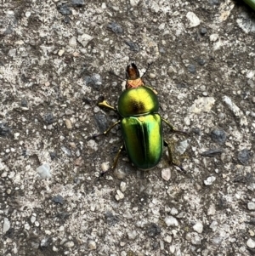
[[[162,156],[161,116],[123,117],[121,128],[127,155],[134,166],[140,169],[155,167]]]

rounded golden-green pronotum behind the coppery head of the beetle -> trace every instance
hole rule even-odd
[[[140,116],[157,112],[158,105],[157,96],[151,88],[128,88],[118,100],[118,112],[122,117]]]

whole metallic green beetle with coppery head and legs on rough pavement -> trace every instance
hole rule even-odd
[[[149,66],[150,64],[148,68]],[[116,168],[124,148],[129,160],[136,168],[142,170],[154,168],[161,160],[163,145],[165,145],[169,163],[184,170],[173,162],[170,145],[163,139],[162,122],[166,123],[173,133],[186,133],[173,128],[173,125],[158,113],[159,101],[156,90],[144,84],[134,63],[127,65],[126,89],[120,95],[117,107],[109,105],[106,100],[99,102],[98,105],[116,111],[120,116],[120,119],[103,133],[108,134],[117,124],[121,125],[124,144],[117,152],[111,169]]]

